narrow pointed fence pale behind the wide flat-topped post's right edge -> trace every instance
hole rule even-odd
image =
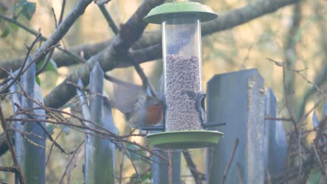
[[[273,176],[284,171],[286,160],[286,135],[282,121],[271,120],[268,117],[277,118],[277,102],[272,89],[268,89],[265,98],[265,135],[263,137],[263,156],[265,176]],[[271,181],[276,183],[274,179]]]

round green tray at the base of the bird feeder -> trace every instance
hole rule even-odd
[[[188,149],[213,146],[224,135],[217,131],[208,130],[184,130],[159,132],[147,135],[152,146],[165,149]]]

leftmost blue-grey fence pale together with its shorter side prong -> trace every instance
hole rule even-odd
[[[27,60],[27,66],[31,63],[31,59]],[[31,64],[29,68],[21,76],[22,89],[25,95],[17,94],[17,86],[13,85],[10,92],[13,93],[12,101],[20,105],[22,109],[32,109],[39,107],[33,100],[43,104],[41,89],[35,82],[36,76],[35,63]],[[20,99],[21,98],[21,99]],[[33,99],[33,100],[32,100]],[[17,107],[13,105],[14,112],[17,112]],[[20,118],[34,118],[38,120],[45,120],[45,111],[43,109],[36,109],[29,112],[30,115],[21,115]],[[32,116],[32,117],[31,117]],[[36,122],[15,122],[15,149],[17,152],[17,160],[22,167],[22,174],[26,183],[45,183],[45,123],[41,121]],[[22,137],[22,132],[28,132]],[[15,183],[19,183],[15,180]]]

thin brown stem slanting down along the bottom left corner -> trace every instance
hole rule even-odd
[[[10,153],[11,153],[11,158],[13,158],[13,167],[15,167],[17,169],[17,173],[16,173],[17,178],[21,184],[25,184],[24,178],[22,176],[22,171],[20,170],[20,164],[17,160],[17,155],[15,153],[15,148],[13,146],[13,140],[11,139],[10,133],[8,132],[7,125],[6,125],[6,119],[3,116],[1,100],[0,100],[0,118],[1,118],[2,129],[6,134],[7,144],[8,144]]]

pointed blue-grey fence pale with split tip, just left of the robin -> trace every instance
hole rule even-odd
[[[103,70],[96,63],[89,82],[89,107],[85,94],[77,90],[82,105],[82,114],[85,119],[98,123],[110,130],[116,132],[112,119],[111,108],[108,102],[103,100]],[[78,85],[82,86],[81,80]],[[91,123],[85,123],[91,128],[97,128]],[[85,135],[85,183],[114,183],[115,173],[115,146],[108,139]]]

